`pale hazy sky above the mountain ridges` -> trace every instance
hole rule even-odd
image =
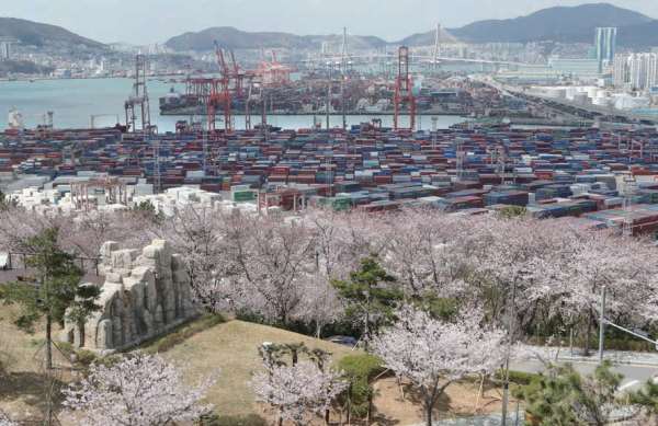
[[[376,35],[388,42],[442,26],[508,19],[582,0],[4,0],[1,16],[59,25],[102,42],[163,43],[188,31],[235,26],[294,34]],[[611,0],[658,19],[657,0]]]

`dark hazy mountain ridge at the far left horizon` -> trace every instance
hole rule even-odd
[[[0,18],[0,37],[18,39],[24,45],[44,46],[53,43],[69,45],[86,45],[92,48],[103,48],[105,45],[79,36],[60,26],[15,18]]]

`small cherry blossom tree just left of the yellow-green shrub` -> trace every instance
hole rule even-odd
[[[330,362],[329,357],[327,364]],[[331,401],[347,388],[341,371],[321,371],[311,361],[263,366],[268,373],[256,372],[248,385],[254,390],[258,402],[280,407],[276,419],[291,419],[297,426],[307,426],[316,415],[327,412]]]

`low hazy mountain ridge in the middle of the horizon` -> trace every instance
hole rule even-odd
[[[167,41],[166,45],[174,50],[211,50],[214,42],[223,49],[258,49],[263,47],[290,47],[297,49],[319,49],[322,42],[340,44],[340,35],[295,35],[288,33],[261,32],[248,33],[231,26],[215,26],[198,33],[185,33]],[[372,49],[386,46],[387,43],[375,36],[348,35],[350,49]]]

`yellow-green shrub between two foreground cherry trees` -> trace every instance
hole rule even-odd
[[[386,371],[382,360],[370,354],[348,355],[338,361],[338,368],[344,371],[344,377],[348,380],[353,380],[352,411],[359,415],[365,414],[367,408],[365,394],[368,383]],[[344,404],[348,400],[348,391],[343,391],[338,398]]]

